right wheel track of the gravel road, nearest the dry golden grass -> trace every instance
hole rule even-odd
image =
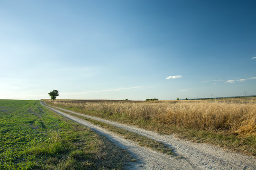
[[[148,138],[154,139],[158,142],[162,142],[163,144],[166,144],[169,147],[173,148],[174,152],[176,152],[177,155],[183,157],[184,160],[186,160],[193,169],[199,168],[203,170],[256,170],[256,159],[250,156],[233,153],[210,144],[192,143],[190,141],[176,138],[174,137],[174,135],[160,135],[156,132],[145,130],[142,128],[120,124],[110,120],[76,113],[74,111],[62,108],[58,109],[68,111],[86,118],[108,123],[113,126],[137,133],[141,136],[146,136]]]

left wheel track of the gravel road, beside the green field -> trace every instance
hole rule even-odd
[[[137,161],[128,162],[125,165],[124,169],[127,169],[127,170],[131,170],[131,169],[132,170],[181,170],[181,169],[194,170],[194,169],[197,169],[195,166],[191,165],[185,159],[175,157],[175,156],[168,156],[162,153],[152,151],[151,149],[141,147],[138,144],[130,142],[129,140],[126,140],[121,136],[114,134],[106,129],[98,127],[86,120],[76,118],[62,111],[46,106],[45,103],[41,102],[41,104],[68,119],[71,119],[86,127],[90,127],[96,133],[102,136],[106,136],[111,142],[127,150],[128,153],[130,153]]]

